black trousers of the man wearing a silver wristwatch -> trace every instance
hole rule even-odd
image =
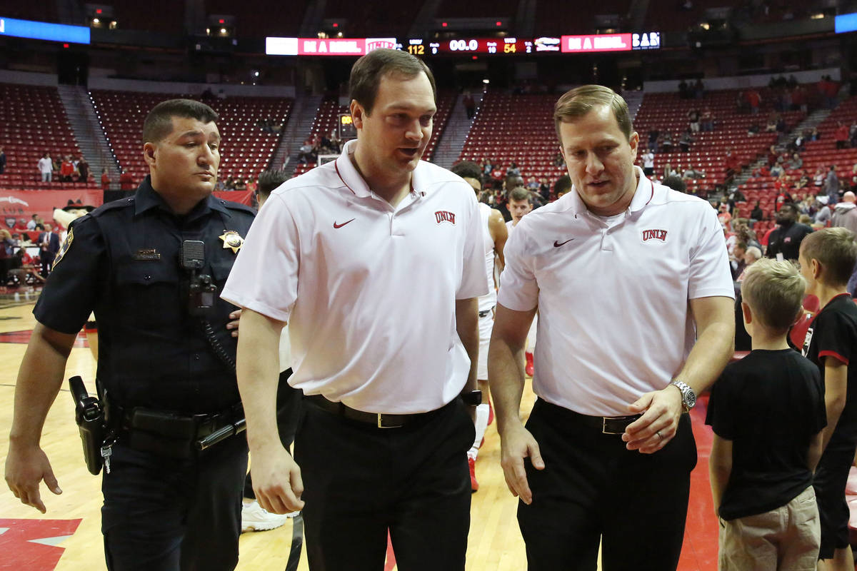
[[[526,426],[545,464],[525,461],[532,503],[518,503],[530,571],[595,571],[599,540],[604,571],[676,568],[697,462],[687,414],[655,454],[542,399]]]

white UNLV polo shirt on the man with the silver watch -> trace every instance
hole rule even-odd
[[[734,298],[716,211],[634,169],[620,219],[595,216],[572,188],[527,214],[504,249],[498,302],[539,307],[533,390],[578,413],[620,416],[663,389],[696,341],[688,300]]]

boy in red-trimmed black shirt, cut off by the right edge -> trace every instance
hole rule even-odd
[[[806,330],[803,354],[818,365],[824,380],[827,428],[818,462],[815,492],[821,516],[819,569],[854,570],[848,545],[845,483],[857,444],[857,306],[846,290],[857,260],[854,234],[845,228],[821,229],[800,245],[800,273],[806,293],[818,297],[821,311]]]

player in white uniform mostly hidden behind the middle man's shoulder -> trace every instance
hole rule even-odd
[[[460,176],[473,187],[476,196],[482,192],[482,170],[479,165],[470,161],[464,161],[452,167],[452,172]],[[485,271],[488,273],[488,294],[479,298],[479,367],[476,379],[479,390],[482,390],[482,404],[476,407],[476,440],[467,451],[467,460],[470,464],[470,488],[473,491],[479,489],[476,481],[476,455],[485,436],[488,427],[488,416],[490,415],[491,401],[488,398],[488,342],[491,340],[491,330],[494,327],[494,304],[497,302],[497,288],[494,281],[494,259],[500,261],[500,269],[503,267],[503,247],[506,245],[508,232],[503,223],[503,215],[500,211],[490,206],[479,203],[479,214],[482,216],[482,240],[485,247]],[[499,273],[499,272],[498,272]]]

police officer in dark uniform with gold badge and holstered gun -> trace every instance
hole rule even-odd
[[[38,323],[18,373],[6,481],[45,513],[39,482],[62,492],[40,432],[75,336],[95,312],[111,570],[232,569],[238,561],[246,439],[195,451],[199,438],[241,418],[231,321],[238,312],[219,290],[254,211],[212,195],[217,119],[186,99],[148,114],[151,176],[133,198],[71,225],[33,310]]]

